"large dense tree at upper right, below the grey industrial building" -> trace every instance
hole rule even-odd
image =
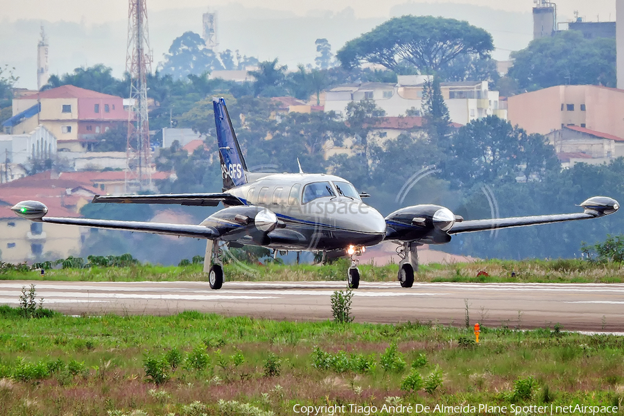
[[[614,39],[585,39],[579,31],[562,31],[533,40],[511,57],[509,76],[522,90],[567,84],[616,86]]]

